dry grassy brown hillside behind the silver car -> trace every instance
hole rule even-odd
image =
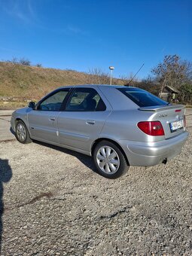
[[[23,66],[11,62],[0,62],[0,96],[14,99],[38,100],[51,90],[72,84],[93,84],[93,75],[72,70],[45,69],[35,66]],[[108,83],[110,82],[109,78]],[[97,78],[98,81],[98,78]],[[114,79],[114,84],[123,84]],[[1,100],[0,99],[0,100]]]

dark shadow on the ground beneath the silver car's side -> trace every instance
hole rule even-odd
[[[52,148],[52,149],[54,149],[56,151],[60,151],[60,152],[63,152],[65,154],[70,154],[73,157],[77,157],[78,160],[81,161],[81,163],[84,163],[84,165],[87,166],[88,168],[90,168],[93,172],[96,172],[97,174],[99,174],[97,172],[97,170],[96,170],[96,166],[93,163],[92,157],[89,157],[89,156],[87,156],[85,154],[81,154],[81,153],[72,151],[72,150],[67,149],[67,148],[61,148],[59,146],[50,145],[50,144],[47,144],[45,142],[38,142],[38,141],[35,141],[35,140],[33,140],[33,142],[35,144],[43,145],[43,146],[45,146],[47,148]]]

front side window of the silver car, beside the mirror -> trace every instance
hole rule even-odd
[[[42,111],[59,111],[62,105],[62,102],[66,98],[69,90],[60,90],[57,93],[49,96],[47,99],[44,99],[43,102],[38,107],[38,110]]]

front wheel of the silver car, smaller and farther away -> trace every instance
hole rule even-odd
[[[15,127],[15,136],[18,142],[27,144],[31,143],[32,139],[29,136],[29,132],[26,128],[26,124],[22,120],[18,120]]]

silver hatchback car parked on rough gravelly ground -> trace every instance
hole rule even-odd
[[[98,172],[117,178],[127,166],[154,166],[177,156],[188,133],[184,105],[136,87],[60,87],[14,111],[17,140],[69,148],[93,157]]]

